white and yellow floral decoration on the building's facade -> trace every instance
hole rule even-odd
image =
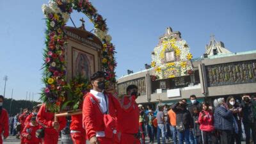
[[[163,62],[166,51],[174,51],[175,57],[179,57],[179,61]],[[176,38],[164,38],[161,45],[157,46],[152,52],[151,67],[154,68],[151,75],[152,81],[193,74],[190,61],[192,58],[193,55],[189,52],[185,40],[178,41]]]

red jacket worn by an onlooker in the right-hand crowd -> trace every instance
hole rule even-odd
[[[202,117],[203,113],[205,113],[205,116]],[[202,131],[213,131],[214,130],[214,126],[213,126],[213,114],[211,111],[205,111],[202,110],[199,113],[199,118],[198,118],[198,122],[200,124],[200,129]]]

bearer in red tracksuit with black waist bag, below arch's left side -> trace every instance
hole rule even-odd
[[[44,144],[57,144],[59,133],[66,126],[66,118],[58,117],[58,121],[54,122],[54,113],[51,113],[43,104],[38,111],[36,121],[40,128],[44,129]]]

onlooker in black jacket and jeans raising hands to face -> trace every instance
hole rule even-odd
[[[189,131],[192,131],[194,127],[191,113],[186,109],[186,102],[186,99],[182,99],[172,106],[172,110],[176,113],[176,127],[180,144],[184,141],[189,144]]]

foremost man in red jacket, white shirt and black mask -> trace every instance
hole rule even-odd
[[[83,125],[90,144],[113,144],[115,130],[115,103],[113,95],[105,93],[104,72],[90,77],[93,90],[83,102]]]

